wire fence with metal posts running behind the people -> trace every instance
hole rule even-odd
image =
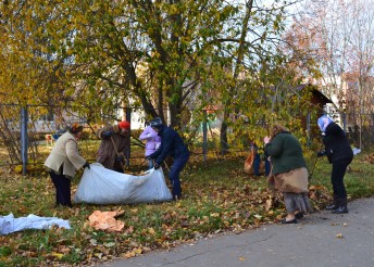
[[[202,111],[207,112],[207,111]],[[207,114],[205,114],[207,115]],[[83,111],[71,111],[68,107],[48,105],[28,105],[22,107],[16,104],[0,104],[0,166],[20,166],[26,174],[27,166],[42,165],[51,151],[59,131],[73,123],[84,125],[84,136],[79,141],[79,149],[85,158],[95,162],[100,140],[96,130],[104,124],[117,119],[132,122],[132,145],[126,155],[126,166],[142,164],[144,148],[138,137],[145,126],[145,113],[141,109],[121,107],[111,116],[104,116],[100,124],[87,122]],[[110,117],[110,119],[108,119]],[[351,114],[342,114],[342,127],[346,129],[352,145],[357,148],[374,144],[374,115],[363,114],[361,120],[353,120]],[[357,117],[357,116],[356,116]],[[208,118],[205,116],[205,118]],[[309,122],[309,124],[313,124]],[[220,158],[221,154],[221,120],[205,119],[196,126],[194,140],[188,143],[192,155],[201,161],[209,156]],[[308,126],[310,127],[310,125]],[[229,129],[228,129],[229,130]],[[248,140],[246,137],[234,137],[228,144],[229,151],[246,155]]]

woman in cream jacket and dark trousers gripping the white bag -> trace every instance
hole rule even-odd
[[[88,162],[79,155],[77,140],[83,132],[83,126],[73,124],[63,134],[45,162],[55,188],[55,205],[72,207],[71,179],[76,170],[88,167]]]

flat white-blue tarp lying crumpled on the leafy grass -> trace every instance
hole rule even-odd
[[[49,229],[52,226],[71,229],[68,220],[57,217],[40,217],[29,214],[27,217],[14,218],[13,214],[0,216],[0,236],[26,229]]]

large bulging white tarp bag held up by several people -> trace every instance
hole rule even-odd
[[[132,204],[172,200],[161,168],[135,176],[104,168],[100,163],[89,166],[74,195],[75,203]]]

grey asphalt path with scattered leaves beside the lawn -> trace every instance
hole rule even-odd
[[[349,202],[348,208],[345,215],[321,211],[296,225],[220,234],[100,266],[374,267],[374,199]]]

